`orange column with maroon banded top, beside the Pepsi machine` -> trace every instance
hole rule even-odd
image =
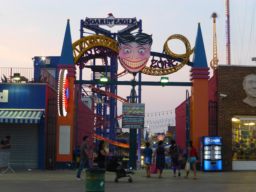
[[[207,67],[193,67],[190,70],[191,88],[191,127],[190,139],[200,150],[200,136],[208,136],[208,79]]]

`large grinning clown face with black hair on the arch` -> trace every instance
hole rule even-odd
[[[117,35],[117,40],[118,59],[126,71],[133,74],[146,66],[150,58],[152,35],[138,33],[134,36],[130,33],[121,33]]]

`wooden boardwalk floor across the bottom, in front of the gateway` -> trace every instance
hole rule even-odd
[[[84,192],[85,172],[82,172],[82,181],[75,180],[75,170],[15,170],[16,174],[8,172],[0,174],[0,191],[10,192]],[[254,192],[256,172],[198,172],[197,180],[193,180],[193,172],[185,179],[185,170],[181,170],[181,176],[173,177],[172,170],[164,170],[162,179],[157,174],[151,174],[146,178],[146,170],[137,170],[132,183],[128,177],[120,178],[114,182],[115,174],[106,172],[106,192],[150,192],[150,191],[197,191],[197,192]]]

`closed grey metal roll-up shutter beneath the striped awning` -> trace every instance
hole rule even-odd
[[[38,124],[0,123],[0,140],[10,135],[11,168],[38,169]]]

